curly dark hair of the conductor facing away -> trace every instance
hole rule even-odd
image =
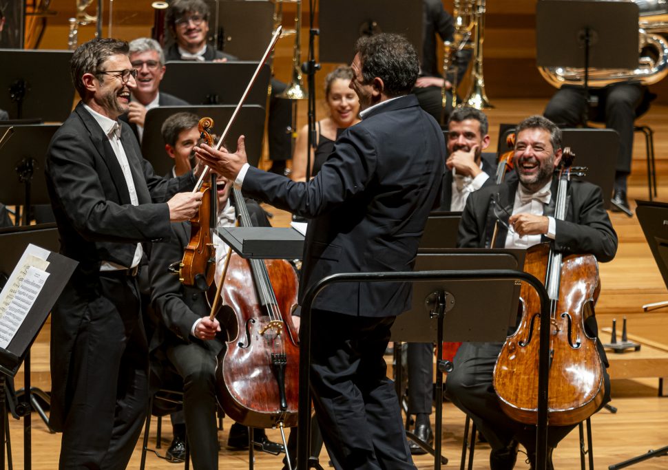
[[[362,62],[362,78],[368,84],[380,78],[388,97],[408,94],[419,73],[417,52],[399,34],[381,33],[364,36],[355,44],[355,54]]]

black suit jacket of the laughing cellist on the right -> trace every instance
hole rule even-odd
[[[552,181],[552,197],[545,215],[554,214],[557,178]],[[488,248],[494,232],[494,208],[491,197],[499,197],[500,204],[512,213],[515,192],[519,182],[492,185],[471,193],[459,224],[460,248]],[[508,222],[508,215],[501,217]],[[495,248],[503,248],[508,230],[499,224]],[[547,237],[544,237],[548,241]],[[572,180],[568,188],[565,220],[556,220],[554,248],[565,254],[591,253],[598,261],[610,261],[617,251],[617,234],[603,208],[601,188],[585,181]]]

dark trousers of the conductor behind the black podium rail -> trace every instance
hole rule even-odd
[[[394,320],[313,310],[313,405],[336,469],[415,469],[383,357]]]

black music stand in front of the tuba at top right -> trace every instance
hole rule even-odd
[[[586,105],[582,122],[587,122],[589,69],[633,70],[638,66],[638,6],[618,1],[539,1],[536,65],[583,69]]]

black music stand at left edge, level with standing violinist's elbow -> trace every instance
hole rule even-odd
[[[11,136],[0,149],[0,201],[23,205],[23,225],[28,225],[32,206],[50,204],[44,173],[45,158],[59,125],[12,127]],[[0,136],[8,128],[0,125]]]

